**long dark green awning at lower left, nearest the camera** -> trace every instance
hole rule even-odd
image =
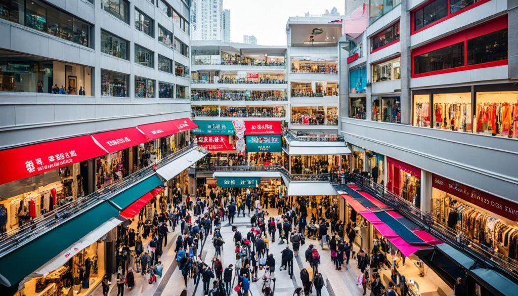
[[[16,285],[61,251],[117,215],[119,211],[115,207],[100,201],[78,216],[62,222],[0,258],[0,281],[6,286]]]

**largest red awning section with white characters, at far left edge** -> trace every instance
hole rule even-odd
[[[0,151],[4,173],[0,184],[31,177],[106,154],[92,136],[84,135]]]

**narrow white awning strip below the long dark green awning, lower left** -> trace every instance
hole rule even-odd
[[[97,239],[101,238],[103,235],[108,233],[110,230],[114,229],[120,223],[124,222],[126,218],[122,216],[118,216],[115,218],[111,218],[110,220],[100,224],[99,227],[92,230],[87,235],[83,236],[83,238],[79,239],[75,244],[71,245],[69,248],[65,249],[59,255],[52,258],[49,262],[45,263],[41,266],[37,271],[32,274],[26,276],[19,285],[23,287],[23,283],[26,283],[27,280],[30,280],[36,276],[45,276],[56,269],[59,269],[63,264],[65,264],[68,260],[70,260],[74,255],[79,253],[84,248],[92,245]]]

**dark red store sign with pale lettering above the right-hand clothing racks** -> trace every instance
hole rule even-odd
[[[432,178],[434,188],[477,205],[488,212],[518,221],[518,204],[435,174]]]

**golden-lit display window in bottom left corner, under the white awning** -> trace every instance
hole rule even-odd
[[[24,283],[17,295],[89,295],[103,280],[104,265],[104,242],[95,242],[79,251],[59,269]]]

